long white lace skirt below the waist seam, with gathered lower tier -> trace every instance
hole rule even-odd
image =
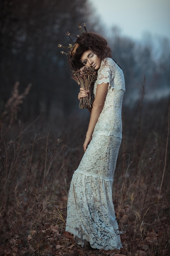
[[[94,135],[74,172],[67,204],[66,231],[82,247],[120,249],[112,199],[113,175],[121,138]]]

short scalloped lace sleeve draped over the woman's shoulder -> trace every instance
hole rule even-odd
[[[111,58],[105,58],[100,65],[97,84],[108,83],[108,89],[125,91],[124,74],[121,68]]]

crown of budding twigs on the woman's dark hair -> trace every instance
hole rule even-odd
[[[84,30],[84,29],[85,29],[85,30]],[[82,29],[82,26],[81,26],[81,24],[79,23],[80,35],[81,35],[82,33],[86,33],[86,32],[87,32],[86,24],[85,24],[85,23],[84,23],[84,29]],[[69,55],[73,56],[73,55],[75,54],[75,52],[76,52],[76,49],[77,49],[77,47],[78,47],[78,44],[77,44],[77,43],[74,43],[74,41],[73,41],[73,39],[71,38],[71,36],[78,38],[79,35],[75,36],[75,35],[71,34],[70,32],[67,32],[66,35],[70,38],[71,43],[69,43],[68,46],[63,46],[63,45],[61,45],[61,44],[58,44],[58,47],[63,48],[64,50],[66,50],[66,52],[61,51],[61,52],[60,52],[61,54],[65,54],[65,55],[68,55],[68,54],[69,54]]]

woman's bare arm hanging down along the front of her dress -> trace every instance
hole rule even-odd
[[[91,135],[97,123],[100,113],[104,107],[104,101],[108,92],[108,83],[102,83],[97,85],[96,96],[93,102],[93,108],[91,109],[91,117],[88,124],[88,130],[86,132],[86,139],[83,144],[84,152],[87,149],[88,144],[91,141]]]

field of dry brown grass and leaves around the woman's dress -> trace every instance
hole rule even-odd
[[[168,99],[123,109],[113,184],[123,245],[117,251],[79,247],[65,232],[68,190],[88,120],[56,119],[49,128],[40,116],[25,124],[10,104],[0,120],[0,256],[170,255]]]

